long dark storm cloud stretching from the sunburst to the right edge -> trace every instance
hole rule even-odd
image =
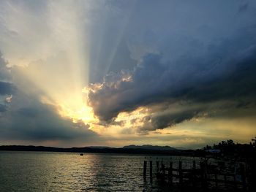
[[[181,64],[171,66],[162,64],[160,55],[149,54],[132,72],[132,81],[122,81],[121,74],[112,73],[105,78],[102,88],[90,92],[89,98],[102,120],[109,120],[121,111],[170,99],[209,102],[245,97],[253,101],[255,55],[255,47],[249,47],[219,64],[201,66],[197,59],[182,58]]]

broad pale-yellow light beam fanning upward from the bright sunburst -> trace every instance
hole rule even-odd
[[[83,93],[83,88],[89,83],[89,36],[85,9],[91,6],[90,3],[84,2],[81,7],[74,1],[49,1],[42,17],[41,24],[45,26],[42,31],[31,30],[34,20],[39,21],[40,18],[31,18],[20,5],[10,4],[9,12],[12,14],[6,16],[10,25],[7,27],[14,28],[21,39],[25,39],[29,49],[34,47],[34,55],[26,52],[23,58],[12,55],[12,65],[18,66],[15,67],[18,73],[42,92],[42,102],[55,105],[63,116],[85,123],[94,119],[87,105],[86,93]],[[20,27],[15,17],[25,23]]]

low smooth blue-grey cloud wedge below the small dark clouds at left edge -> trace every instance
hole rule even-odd
[[[26,103],[21,107],[20,101]],[[41,104],[35,96],[18,92],[9,109],[0,118],[2,139],[45,140],[93,140],[97,135],[82,122],[72,123],[58,115],[56,108]]]

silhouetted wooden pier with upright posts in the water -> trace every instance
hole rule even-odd
[[[147,168],[149,165],[149,170]],[[168,165],[168,166],[167,166]],[[149,177],[148,177],[149,171]],[[246,182],[246,169],[243,163],[234,165],[233,170],[222,166],[207,164],[206,162],[192,161],[190,169],[184,169],[183,162],[173,167],[173,162],[144,161],[143,178],[157,179],[162,185],[178,185],[180,187],[200,188],[203,191],[248,191]]]

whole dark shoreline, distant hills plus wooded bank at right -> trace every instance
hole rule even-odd
[[[23,146],[23,145],[2,145],[0,150],[17,151],[49,151],[49,152],[73,152],[73,153],[127,153],[127,154],[152,154],[152,155],[187,155],[198,157],[214,158],[255,158],[256,157],[256,137],[249,144],[239,144],[229,139],[219,142],[217,145],[203,147],[197,150],[181,150],[170,146],[155,145],[128,145],[124,147],[44,147],[44,146]]]

